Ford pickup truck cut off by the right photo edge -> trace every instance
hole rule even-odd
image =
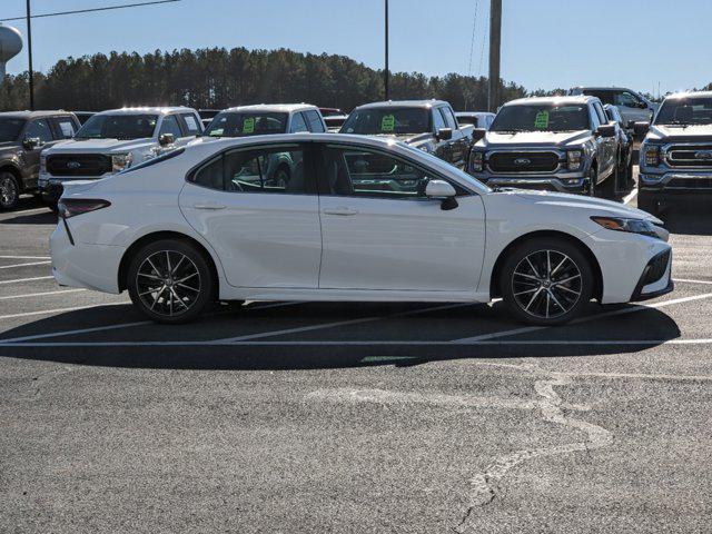
[[[637,207],[653,215],[674,205],[712,200],[712,91],[671,95],[645,135],[640,151]]]

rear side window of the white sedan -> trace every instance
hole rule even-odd
[[[314,178],[305,172],[305,154],[301,145],[230,150],[208,160],[188,180],[230,192],[316,194]]]

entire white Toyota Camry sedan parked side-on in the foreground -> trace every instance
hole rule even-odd
[[[563,324],[595,299],[672,290],[649,214],[493,190],[397,141],[346,135],[206,140],[67,187],[51,237],[63,286],[128,289],[160,323],[211,300],[477,301]]]

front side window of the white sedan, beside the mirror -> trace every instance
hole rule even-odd
[[[435,177],[413,162],[379,150],[325,145],[319,154],[319,194],[422,199]]]

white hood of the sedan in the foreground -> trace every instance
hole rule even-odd
[[[663,225],[662,220],[652,216],[647,211],[643,211],[642,209],[633,208],[621,202],[615,202],[613,200],[604,200],[602,198],[568,195],[565,192],[533,191],[528,189],[504,189],[495,191],[494,195],[515,195],[532,204],[541,205],[546,209],[565,207],[568,209],[587,210],[592,212],[591,215],[646,219],[654,225]]]

